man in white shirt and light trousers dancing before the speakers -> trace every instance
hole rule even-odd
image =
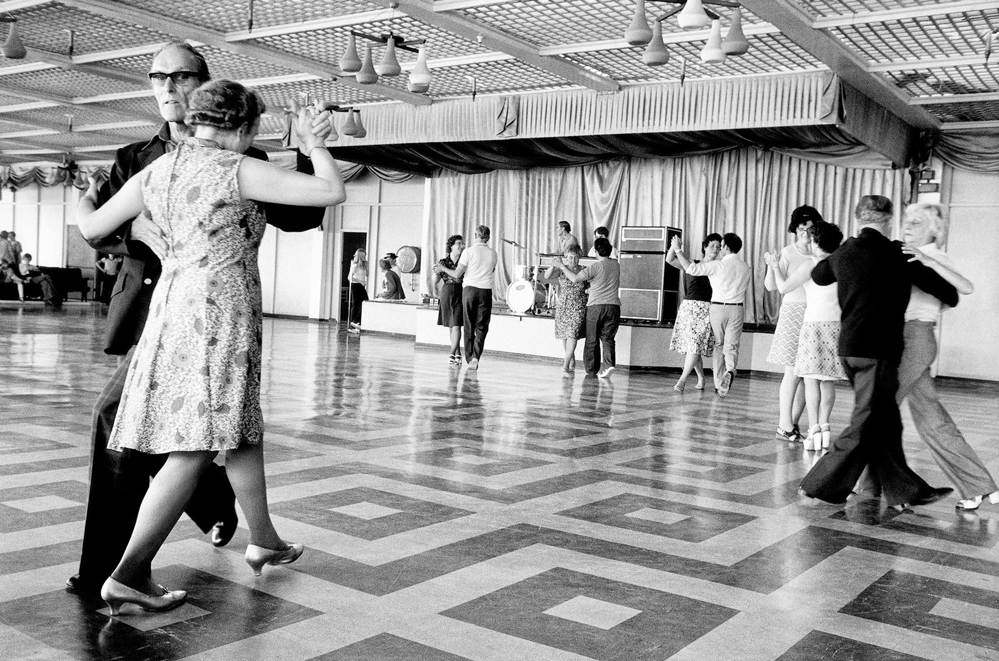
[[[719,397],[728,394],[739,360],[739,340],[746,319],[745,298],[749,289],[749,265],[738,252],[742,240],[729,232],[721,238],[720,259],[693,264],[680,251],[673,237],[676,260],[691,276],[707,276],[711,283],[711,331],[714,331],[714,390]]]

